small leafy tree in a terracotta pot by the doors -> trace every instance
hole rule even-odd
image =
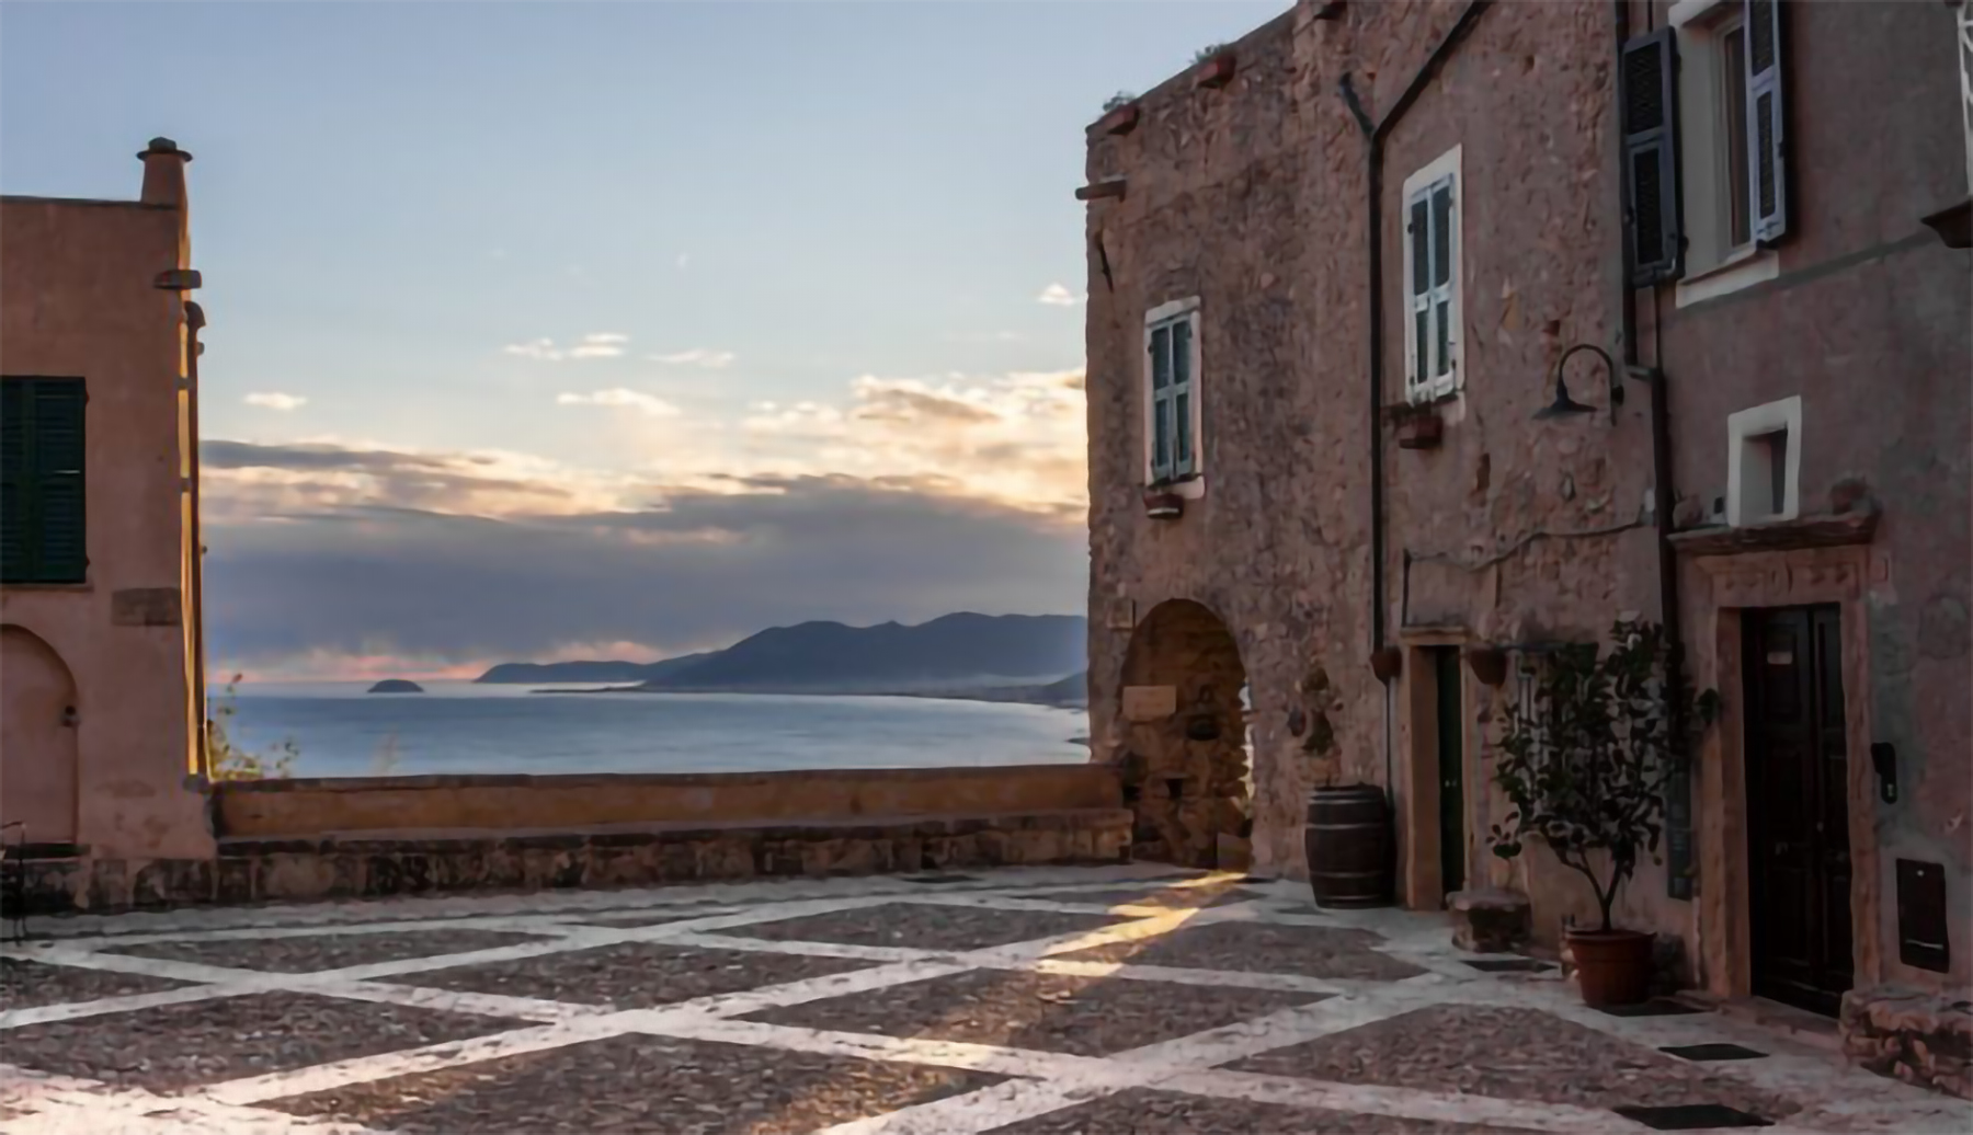
[[[1529,705],[1515,709],[1494,778],[1511,804],[1492,828],[1511,859],[1529,839],[1582,873],[1602,924],[1569,930],[1582,1001],[1634,1005],[1649,995],[1651,936],[1610,922],[1638,857],[1657,861],[1665,778],[1713,721],[1717,696],[1673,678],[1663,627],[1618,621],[1610,648],[1569,644],[1543,666]]]

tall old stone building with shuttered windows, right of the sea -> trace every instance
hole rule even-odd
[[[1726,711],[1620,922],[1724,997],[1967,983],[1953,28],[1300,2],[1091,126],[1091,725],[1138,855],[1302,875],[1310,788],[1381,784],[1403,902],[1515,887],[1553,942],[1594,902],[1490,853],[1501,723],[1642,615]]]

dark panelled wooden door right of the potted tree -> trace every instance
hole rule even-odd
[[[1744,646],[1754,993],[1835,1015],[1855,977],[1839,609],[1748,611]]]

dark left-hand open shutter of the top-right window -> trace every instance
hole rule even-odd
[[[1754,0],[1746,0],[1754,2]],[[1683,272],[1679,213],[1679,47],[1671,28],[1624,43],[1618,100],[1630,211],[1630,284],[1645,288]]]

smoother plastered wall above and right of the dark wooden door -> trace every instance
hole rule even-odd
[[[1786,63],[1793,201],[1780,276],[1687,307],[1669,290],[1661,298],[1675,485],[1691,514],[1709,514],[1726,495],[1726,416],[1799,394],[1801,514],[1831,512],[1845,479],[1861,479],[1882,508],[1864,605],[1870,739],[1896,747],[1900,776],[1896,804],[1876,800],[1868,776],[1884,979],[1963,989],[1973,981],[1973,946],[1957,934],[1973,924],[1973,276],[1967,252],[1918,223],[1967,195],[1953,10],[1791,4]],[[1687,566],[1681,587],[1693,617],[1709,611],[1703,571]],[[1900,857],[1945,867],[1949,973],[1898,962]]]

